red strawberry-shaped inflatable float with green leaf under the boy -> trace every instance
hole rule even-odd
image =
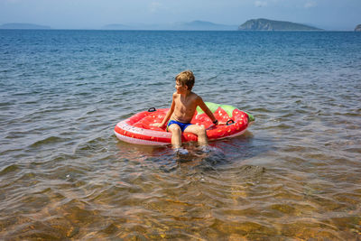
[[[191,124],[203,125],[207,130],[208,140],[218,140],[234,137],[245,133],[246,128],[255,121],[255,117],[228,105],[218,105],[206,102],[208,108],[220,123],[226,125],[214,125],[209,117],[197,107]],[[171,133],[165,128],[153,126],[154,123],[161,123],[169,109],[150,108],[131,116],[118,124],[114,132],[116,137],[130,144],[164,145],[171,144]],[[196,142],[197,135],[182,133],[181,141]]]

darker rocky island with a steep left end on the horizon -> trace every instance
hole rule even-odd
[[[251,19],[238,27],[240,31],[320,31],[301,23],[275,21],[264,18]]]

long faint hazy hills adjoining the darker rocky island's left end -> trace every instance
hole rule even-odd
[[[170,24],[108,24],[104,30],[186,30],[186,31],[236,31],[236,25],[226,25],[205,21]]]

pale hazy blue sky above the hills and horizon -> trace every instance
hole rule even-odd
[[[354,30],[361,23],[361,0],[0,0],[0,24],[34,23],[54,29],[195,20],[240,25],[255,18]]]

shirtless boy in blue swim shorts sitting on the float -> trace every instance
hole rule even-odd
[[[181,149],[181,133],[189,132],[198,135],[200,146],[208,145],[208,138],[204,126],[190,124],[197,107],[200,107],[212,120],[214,125],[218,125],[218,120],[204,104],[201,97],[191,91],[194,85],[194,75],[190,70],[180,72],[175,77],[176,92],[173,93],[171,108],[164,117],[162,123],[155,126],[164,127],[167,124],[167,131],[171,132],[171,145],[176,152],[187,153]],[[168,120],[170,120],[168,122]]]

